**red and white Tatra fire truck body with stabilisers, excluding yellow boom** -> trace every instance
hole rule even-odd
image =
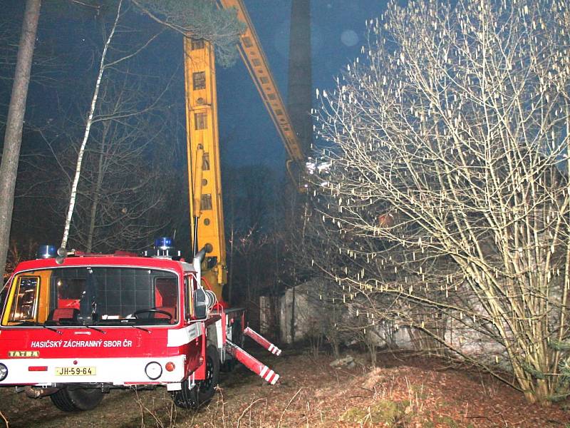
[[[242,350],[244,310],[227,309],[193,263],[156,253],[94,255],[43,246],[11,275],[0,318],[0,387],[49,396],[64,411],[95,407],[113,388],[162,385],[179,407],[208,402],[220,365],[242,362],[267,382],[279,374]]]

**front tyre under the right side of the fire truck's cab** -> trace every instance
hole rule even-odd
[[[188,380],[182,382],[180,391],[172,391],[172,401],[182,409],[196,410],[207,404],[219,382],[219,356],[217,348],[209,345],[206,348],[206,378],[196,382],[196,386],[188,389]]]

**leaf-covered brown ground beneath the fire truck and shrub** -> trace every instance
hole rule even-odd
[[[259,357],[281,379],[271,387],[243,367],[223,374],[199,412],[177,409],[164,388],[114,390],[91,412],[60,412],[50,399],[0,389],[0,427],[570,427],[565,403],[530,405],[487,375],[437,360],[351,352],[356,367],[333,369],[328,355],[286,350]]]

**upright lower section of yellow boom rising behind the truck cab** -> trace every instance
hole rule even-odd
[[[202,272],[222,301],[227,267],[214,48],[208,41],[185,37],[184,54],[190,224],[195,250],[211,246]]]

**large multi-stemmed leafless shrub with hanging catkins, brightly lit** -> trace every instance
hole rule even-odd
[[[562,2],[394,1],[319,93],[315,215],[343,255],[323,271],[450,352],[485,337],[530,402],[567,393],[568,22]]]

